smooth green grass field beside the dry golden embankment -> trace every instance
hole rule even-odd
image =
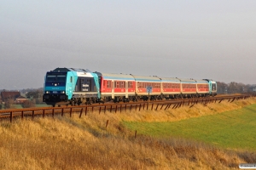
[[[123,122],[137,133],[195,139],[224,148],[256,150],[256,105],[178,122]]]

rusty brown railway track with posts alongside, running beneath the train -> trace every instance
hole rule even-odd
[[[233,102],[237,99],[247,99],[250,97],[255,97],[255,94],[236,94],[236,95],[224,95],[215,96],[211,98],[194,98],[194,99],[166,99],[157,101],[142,101],[142,102],[131,102],[131,103],[105,103],[104,105],[94,104],[94,105],[76,105],[76,106],[64,106],[64,107],[41,107],[41,108],[28,108],[28,109],[9,109],[0,111],[0,118],[9,118],[10,122],[13,122],[14,117],[21,117],[23,119],[25,116],[31,116],[32,119],[35,116],[55,116],[55,115],[69,115],[72,116],[73,113],[79,113],[79,117],[90,111],[101,112],[122,112],[122,111],[141,111],[141,110],[167,110],[176,109],[181,106],[187,105],[193,107],[196,104],[201,104],[207,106],[211,103],[221,103],[224,99],[229,102]]]

